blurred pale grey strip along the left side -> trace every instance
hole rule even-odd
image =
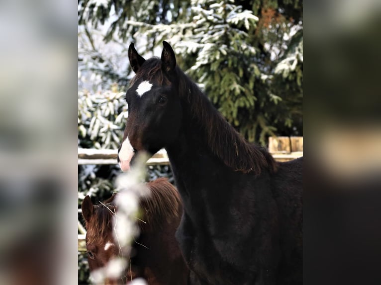
[[[77,29],[76,3],[0,2],[1,285],[77,280]]]

